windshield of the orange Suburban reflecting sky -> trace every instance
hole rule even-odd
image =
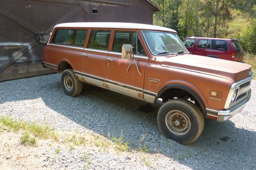
[[[143,31],[146,43],[154,55],[188,53],[175,33]]]

